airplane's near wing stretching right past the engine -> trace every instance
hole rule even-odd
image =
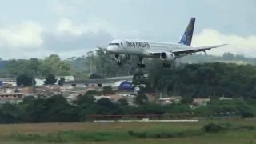
[[[193,54],[193,53],[206,51],[206,50],[210,50],[213,48],[218,48],[226,45],[227,44],[215,45],[215,46],[200,46],[200,47],[193,47],[193,49],[181,49],[181,50],[174,50],[171,52],[174,53],[176,57],[181,57],[182,55],[185,55],[185,54]],[[162,52],[163,52],[162,50],[150,51],[150,54],[160,54]]]

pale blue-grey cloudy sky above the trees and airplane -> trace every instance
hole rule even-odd
[[[255,0],[8,0],[0,2],[0,58],[81,56],[113,38],[178,42],[256,57]]]

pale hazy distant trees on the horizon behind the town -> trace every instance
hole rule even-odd
[[[143,73],[149,73],[154,68],[154,61],[144,58],[146,69]],[[193,54],[183,58],[178,58],[176,64],[180,63],[202,63],[216,61],[244,61],[255,65],[255,58],[246,58],[243,55],[225,53],[222,56],[208,54]],[[38,59],[10,59],[0,60],[0,77],[17,77],[19,74],[26,74],[33,77],[46,77],[48,74],[56,76],[73,75],[76,78],[88,78],[90,74],[99,74],[103,78],[112,76],[133,75],[138,69],[138,58],[132,56],[130,60],[122,62],[118,66],[114,60],[114,54],[106,50],[98,49],[89,51],[81,57],[72,57],[66,60],[61,59],[57,54],[51,54],[49,57]]]

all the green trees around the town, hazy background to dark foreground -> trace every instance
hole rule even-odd
[[[256,67],[251,65],[236,65],[225,63],[183,64],[178,63],[173,69],[162,67],[160,60],[146,59],[146,69],[135,70],[137,59],[132,57],[118,66],[112,61],[113,55],[104,50],[96,53],[89,52],[82,58],[70,58],[63,61],[58,55],[50,55],[44,60],[31,58],[30,60],[11,60],[3,70],[6,75],[18,76],[18,85],[31,86],[31,78],[42,76],[45,84],[56,82],[54,75],[74,74],[79,77],[102,78],[118,74],[134,74],[134,85],[141,86],[141,92],[134,102],[138,107],[128,106],[126,100],[117,103],[107,98],[94,101],[92,94],[78,96],[78,100],[67,102],[62,95],[51,98],[26,97],[23,102],[6,103],[0,107],[0,122],[81,122],[88,120],[90,114],[180,114],[197,113],[207,117],[216,114],[235,114],[242,117],[253,117],[255,111]],[[206,57],[205,55],[198,55]],[[186,57],[185,57],[186,58]],[[224,54],[225,60],[245,60],[254,62],[254,58],[244,58],[233,54]],[[86,69],[74,69],[74,63],[85,62]],[[182,58],[181,58],[182,59]],[[79,61],[80,61],[79,60]],[[83,61],[85,60],[85,61]],[[73,62],[73,64],[71,64]],[[80,65],[80,64],[79,64]],[[83,66],[77,66],[83,67]],[[92,74],[95,72],[96,74]],[[149,77],[145,78],[144,74]],[[91,74],[91,75],[87,75]],[[63,79],[62,79],[63,81]],[[144,84],[144,85],[142,85]],[[59,85],[62,85],[61,83]],[[159,97],[170,95],[182,96],[179,104],[161,106],[150,103],[145,93],[157,93]],[[234,98],[234,100],[218,101],[219,97]],[[207,106],[191,109],[189,104],[193,98],[210,98]]]

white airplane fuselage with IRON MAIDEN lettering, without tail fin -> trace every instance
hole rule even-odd
[[[128,54],[137,55],[143,58],[159,58],[154,54],[150,54],[150,51],[162,50],[162,51],[172,51],[189,49],[190,46],[182,45],[179,43],[169,43],[169,42],[147,42],[139,40],[128,40],[128,39],[114,39],[107,46],[107,50],[113,54]]]

